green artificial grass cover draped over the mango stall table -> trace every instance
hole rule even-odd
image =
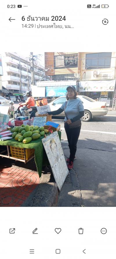
[[[61,140],[61,131],[58,131],[58,135],[59,135],[59,139]],[[41,177],[42,165],[49,165],[49,161],[48,161],[44,146],[41,141],[42,138],[44,138],[44,136],[42,136],[38,140],[32,140],[28,144],[23,144],[23,143],[18,142],[15,139],[10,139],[10,140],[6,140],[6,141],[0,141],[0,145],[27,148],[27,149],[28,148],[35,149],[35,163],[36,163],[39,177]]]

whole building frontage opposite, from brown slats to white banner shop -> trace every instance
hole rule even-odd
[[[79,82],[79,94],[113,99],[116,52],[45,52],[45,74],[54,81]]]

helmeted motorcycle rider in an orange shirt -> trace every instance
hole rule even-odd
[[[26,96],[28,97],[26,102],[25,103],[19,103],[20,104],[20,112],[22,114],[22,111],[23,111],[23,105],[26,106],[25,108],[28,110],[31,108],[31,106],[35,106],[35,100],[34,98],[32,97],[32,92],[31,91],[27,91],[26,92]]]

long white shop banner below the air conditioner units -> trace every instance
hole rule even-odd
[[[116,80],[90,80],[79,82],[79,92],[114,91]]]

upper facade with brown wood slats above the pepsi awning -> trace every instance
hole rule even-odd
[[[80,52],[45,52],[45,75],[54,81],[79,79]]]

